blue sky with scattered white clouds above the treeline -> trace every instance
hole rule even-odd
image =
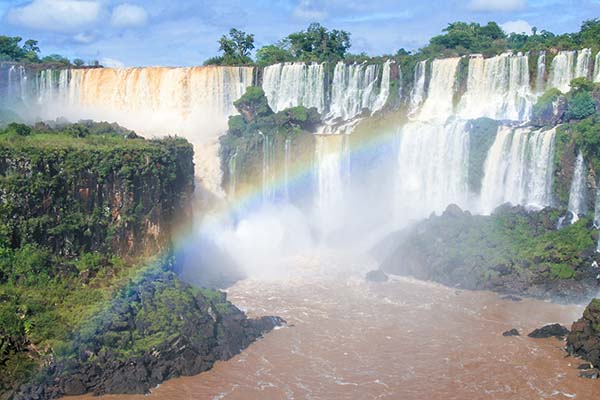
[[[596,17],[600,0],[0,0],[0,35],[105,66],[189,66],[217,55],[232,27],[260,48],[319,22],[378,55],[418,49],[453,21],[564,33]]]

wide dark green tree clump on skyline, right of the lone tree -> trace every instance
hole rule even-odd
[[[318,23],[312,23],[306,31],[290,34],[284,43],[294,59],[300,61],[343,60],[350,49],[350,33],[337,29],[328,30]]]

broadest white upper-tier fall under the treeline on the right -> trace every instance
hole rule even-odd
[[[471,57],[467,91],[459,106],[462,118],[523,121],[529,118],[533,102],[527,56]]]

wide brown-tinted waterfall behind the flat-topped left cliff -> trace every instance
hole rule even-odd
[[[217,137],[233,102],[253,82],[251,67],[43,70],[32,109],[42,119],[115,121],[141,135],[178,134],[195,148],[196,175],[222,196]]]

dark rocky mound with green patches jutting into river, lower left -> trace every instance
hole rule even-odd
[[[284,322],[248,319],[224,293],[151,270],[74,336],[68,357],[47,368],[43,383],[22,387],[14,398],[146,393],[210,369]]]

